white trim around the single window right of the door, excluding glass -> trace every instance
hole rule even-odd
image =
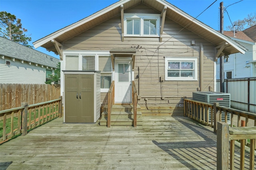
[[[165,57],[165,81],[197,81],[198,57]],[[194,77],[168,77],[168,61],[194,61]]]

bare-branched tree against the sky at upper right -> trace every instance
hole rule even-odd
[[[235,22],[232,23],[232,26],[227,26],[227,30],[229,31],[233,31],[234,30],[234,25],[235,26],[235,30],[236,31],[243,31],[246,30],[247,28],[250,28],[254,25],[256,25],[256,12],[253,14],[248,14],[248,16],[246,18],[244,18],[243,20],[237,20]]]

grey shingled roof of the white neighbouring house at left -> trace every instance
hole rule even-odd
[[[57,58],[3,37],[0,37],[0,55],[52,68],[57,68],[57,64],[60,62]]]

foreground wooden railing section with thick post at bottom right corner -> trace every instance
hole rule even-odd
[[[228,169],[230,140],[230,170],[234,169],[235,140],[240,140],[240,169],[244,169],[245,141],[250,139],[250,170],[254,170],[254,150],[256,127],[229,127],[228,123],[218,122],[217,130],[217,169]]]

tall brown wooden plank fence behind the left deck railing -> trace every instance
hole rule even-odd
[[[42,103],[60,96],[60,85],[49,84],[0,84],[0,111]]]

